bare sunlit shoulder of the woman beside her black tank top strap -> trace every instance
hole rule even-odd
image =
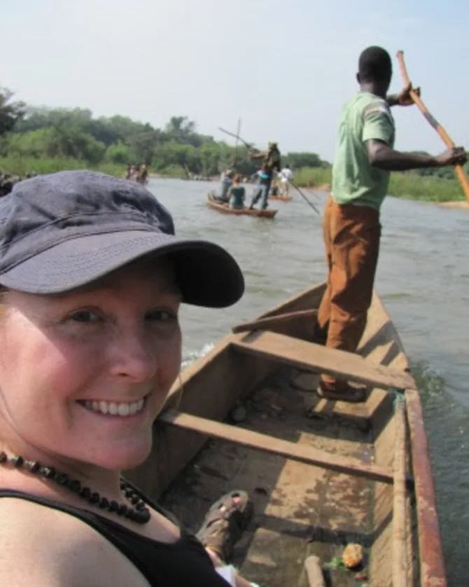
[[[6,497],[0,518],[2,585],[148,587],[123,553],[78,518]]]

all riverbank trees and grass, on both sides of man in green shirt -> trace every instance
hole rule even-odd
[[[295,170],[300,186],[330,184],[330,164],[316,153],[282,153],[282,162]],[[87,167],[122,176],[129,163],[171,177],[214,177],[228,167],[250,176],[257,168],[242,144],[200,134],[186,116],[173,116],[160,129],[126,116],[94,118],[87,109],[26,106],[0,88],[0,170],[25,177]],[[412,199],[464,199],[450,167],[393,173],[389,191]]]

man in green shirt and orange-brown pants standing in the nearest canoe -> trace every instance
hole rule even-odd
[[[394,120],[390,106],[409,106],[410,86],[387,96],[391,57],[381,47],[368,47],[358,60],[360,91],[347,102],[339,119],[332,194],[325,206],[323,234],[328,285],[318,310],[318,329],[325,345],[355,352],[366,324],[376,270],[379,208],[388,190],[389,172],[443,167],[466,161],[462,148],[436,157],[393,149]],[[317,388],[331,400],[364,401],[365,387],[321,375]]]

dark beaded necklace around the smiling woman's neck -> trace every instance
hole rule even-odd
[[[10,457],[2,450],[0,452],[0,463],[3,465],[10,464],[15,469],[25,469],[34,475],[55,481],[57,485],[70,490],[88,502],[88,504],[115,513],[116,516],[127,518],[127,520],[131,520],[137,524],[146,524],[151,518],[150,510],[144,500],[141,499],[139,493],[123,478],[120,479],[120,490],[125,495],[127,502],[130,502],[133,507],[120,504],[114,499],[102,497],[97,491],[92,491],[89,487],[83,487],[78,479],[71,479],[66,473],[60,473],[54,467],[45,467],[45,465],[38,461],[29,461],[20,455]]]

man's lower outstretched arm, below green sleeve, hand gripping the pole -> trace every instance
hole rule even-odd
[[[447,149],[436,157],[417,155],[416,153],[402,153],[391,149],[383,141],[370,139],[365,141],[370,165],[386,171],[407,171],[421,167],[444,167],[445,165],[463,165],[467,156],[463,147]]]

